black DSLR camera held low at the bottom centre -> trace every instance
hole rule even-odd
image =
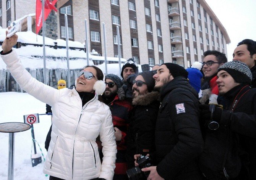
[[[150,158],[148,156],[141,155],[140,157],[138,157],[137,163],[139,164],[139,166],[133,167],[126,171],[126,174],[128,175],[128,179],[129,180],[146,180],[147,177],[149,176],[150,171],[143,172],[141,171],[141,169],[152,166],[150,162]]]

